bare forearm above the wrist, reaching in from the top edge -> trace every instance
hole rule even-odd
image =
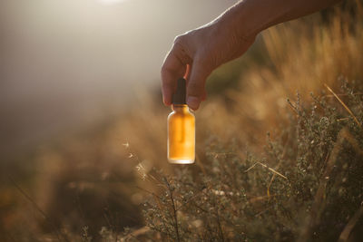
[[[340,0],[243,0],[213,21],[250,38],[272,25],[309,15]]]

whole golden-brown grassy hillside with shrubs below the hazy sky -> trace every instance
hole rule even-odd
[[[208,82],[197,160],[166,160],[159,90],[1,168],[2,241],[358,241],[360,2],[263,32]]]

